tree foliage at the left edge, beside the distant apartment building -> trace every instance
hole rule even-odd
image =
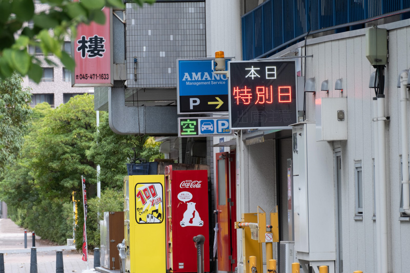
[[[16,73],[0,80],[0,173],[17,158],[24,144],[31,115],[31,94],[22,83],[23,79]]]

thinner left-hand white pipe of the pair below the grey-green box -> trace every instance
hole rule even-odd
[[[373,98],[373,135],[375,137],[375,196],[376,199],[379,199],[380,196],[380,181],[379,175],[376,173],[379,167],[379,138],[378,138],[378,131],[377,131],[377,98]],[[381,247],[380,247],[380,204],[376,202],[376,246],[377,246],[377,272],[381,273]]]

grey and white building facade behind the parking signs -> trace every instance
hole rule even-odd
[[[120,54],[127,75],[95,90],[95,108],[109,111],[115,132],[155,135],[168,158],[210,166],[217,271],[249,270],[250,241],[232,223],[278,206],[272,256],[279,272],[291,272],[291,262],[305,273],[321,265],[332,273],[406,272],[402,159],[408,161],[409,140],[408,121],[401,121],[408,100],[398,79],[410,66],[410,21],[406,4],[393,2],[157,1],[137,9],[128,3],[126,15],[117,14],[126,37],[114,45],[114,62]],[[373,26],[386,33],[377,42],[366,36]],[[374,67],[366,52],[383,44],[388,59]],[[293,60],[296,124],[176,137],[176,60],[216,51],[234,61]],[[267,271],[267,253],[258,251],[258,270]]]

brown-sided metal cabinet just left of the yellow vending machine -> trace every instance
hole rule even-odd
[[[101,266],[107,269],[119,268],[117,244],[124,239],[124,212],[104,212],[100,221]]]

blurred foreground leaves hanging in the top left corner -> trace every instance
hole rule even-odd
[[[73,59],[62,49],[67,35],[75,34],[79,23],[105,23],[101,8],[125,8],[120,0],[83,0],[79,2],[64,0],[42,0],[48,8],[34,12],[33,0],[0,0],[0,78],[12,76],[16,71],[22,76],[29,75],[39,82],[42,75],[40,60],[28,53],[28,46],[42,49],[47,62],[49,53],[57,56],[63,65],[74,69]],[[152,4],[155,0],[135,0],[139,6]],[[27,22],[34,26],[28,27]],[[17,37],[17,38],[16,38]]]

